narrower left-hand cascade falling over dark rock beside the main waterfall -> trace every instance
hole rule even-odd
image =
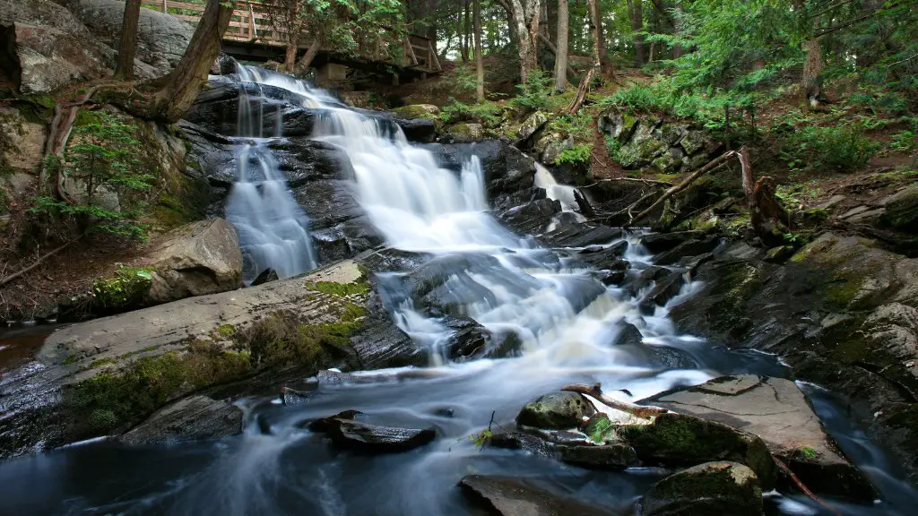
[[[241,79],[261,84],[253,70],[239,66]],[[242,280],[246,285],[266,269],[274,269],[283,279],[316,266],[309,218],[287,188],[285,175],[269,148],[272,140],[283,136],[282,118],[278,113],[274,134],[264,135],[266,108],[270,105],[263,95],[252,98],[244,87],[240,88],[238,127],[242,134],[235,139],[238,168],[226,204],[226,218],[239,232],[245,260]]]

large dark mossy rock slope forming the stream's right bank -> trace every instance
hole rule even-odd
[[[784,265],[733,244],[701,264],[705,288],[671,308],[677,331],[779,353],[799,379],[848,399],[868,436],[918,479],[918,262],[825,233]]]

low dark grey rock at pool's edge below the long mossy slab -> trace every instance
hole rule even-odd
[[[228,437],[242,432],[242,410],[207,396],[192,396],[154,412],[120,437],[131,445],[162,445]]]

